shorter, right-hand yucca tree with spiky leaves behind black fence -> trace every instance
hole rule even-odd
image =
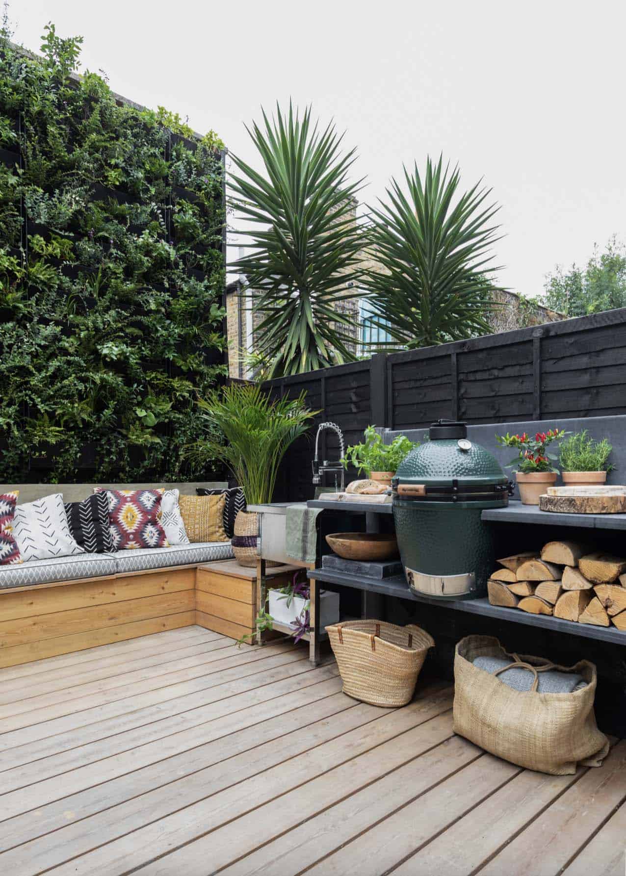
[[[494,304],[489,249],[497,239],[492,224],[497,205],[486,205],[480,184],[457,195],[459,168],[442,159],[404,169],[407,194],[396,180],[388,203],[369,208],[370,250],[378,269],[366,273],[373,323],[403,347],[425,347],[487,334]]]

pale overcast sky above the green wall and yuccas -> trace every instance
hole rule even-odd
[[[248,160],[261,104],[312,102],[358,147],[366,200],[443,152],[462,184],[493,188],[500,279],[524,294],[626,239],[623,0],[13,0],[10,15],[32,49],[48,20],[82,34],[83,69]]]

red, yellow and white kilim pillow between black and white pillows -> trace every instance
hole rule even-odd
[[[167,537],[159,522],[164,490],[106,490],[109,497],[109,528],[113,550],[168,548]]]

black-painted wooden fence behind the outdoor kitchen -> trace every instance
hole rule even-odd
[[[265,384],[293,398],[302,390],[317,423],[336,422],[348,444],[370,423],[427,427],[439,417],[468,423],[598,417],[626,413],[626,308],[550,322]],[[276,500],[311,498],[312,435],[288,451]],[[324,458],[338,455],[324,433]]]

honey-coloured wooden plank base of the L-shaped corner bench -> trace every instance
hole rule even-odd
[[[252,643],[256,586],[223,560],[0,590],[0,667],[194,624]]]

